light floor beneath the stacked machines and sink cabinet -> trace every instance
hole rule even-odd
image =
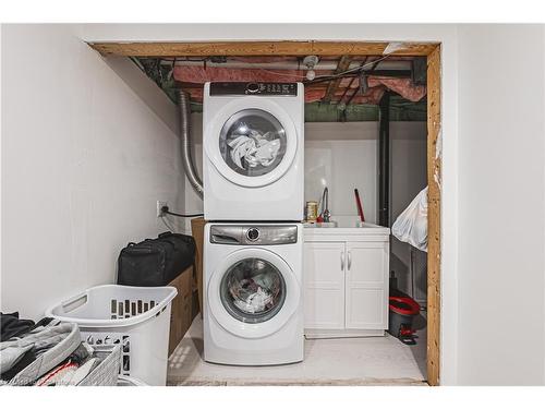
[[[169,359],[169,385],[425,385],[425,332],[414,347],[385,337],[308,339],[303,362],[228,366],[204,362],[195,318]]]

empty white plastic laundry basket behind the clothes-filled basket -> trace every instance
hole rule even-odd
[[[166,385],[174,287],[93,287],[46,312],[80,326],[89,345],[121,345],[121,374]]]

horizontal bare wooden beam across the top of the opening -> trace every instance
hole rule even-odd
[[[438,43],[403,43],[395,56],[428,56]],[[382,56],[384,41],[89,43],[102,56]]]

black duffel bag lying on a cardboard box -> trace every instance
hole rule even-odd
[[[195,240],[170,231],[157,239],[129,243],[118,258],[118,284],[122,286],[166,286],[193,265]]]

